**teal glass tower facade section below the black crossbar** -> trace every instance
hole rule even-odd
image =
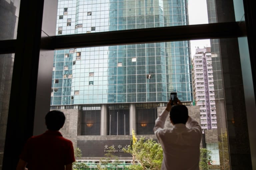
[[[192,102],[191,77],[189,41],[57,50],[51,105]]]

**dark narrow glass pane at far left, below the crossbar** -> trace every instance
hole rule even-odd
[[[14,54],[0,55],[0,157],[3,158]],[[0,159],[0,167],[2,167]]]

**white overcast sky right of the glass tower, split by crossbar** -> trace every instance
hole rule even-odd
[[[189,25],[208,24],[206,0],[188,0]],[[196,47],[211,46],[210,40],[191,40],[191,56],[195,55]]]

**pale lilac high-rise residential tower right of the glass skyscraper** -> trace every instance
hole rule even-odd
[[[200,106],[202,130],[216,129],[211,47],[197,47],[192,65],[194,103]]]

